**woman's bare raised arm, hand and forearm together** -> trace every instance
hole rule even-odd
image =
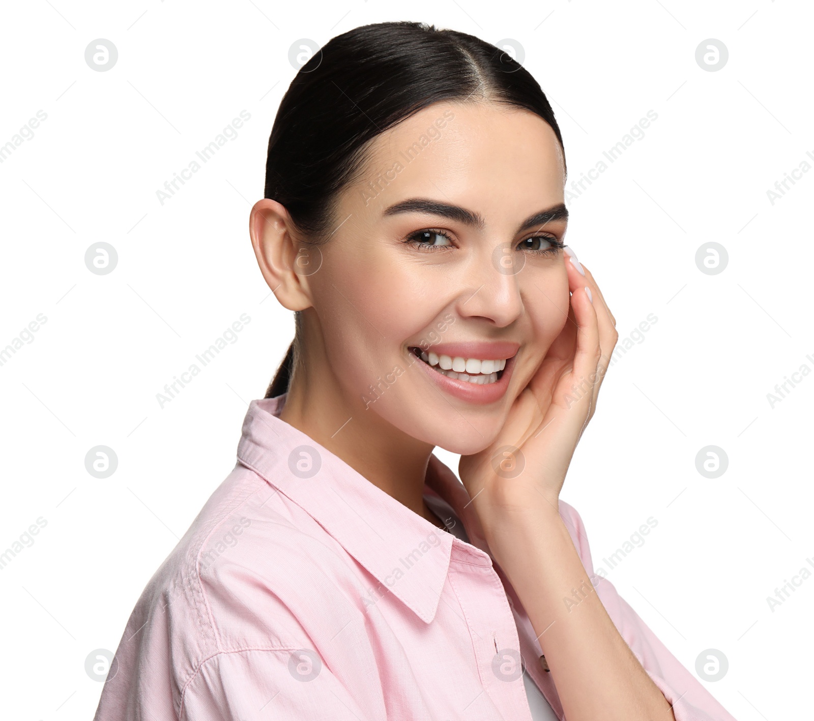
[[[562,333],[495,442],[462,457],[458,472],[492,558],[532,623],[565,717],[676,721],[594,592],[559,515],[562,482],[619,337],[591,273],[571,260],[566,268],[571,307]]]

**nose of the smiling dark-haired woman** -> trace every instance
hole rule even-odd
[[[523,253],[516,251],[512,243],[501,243],[473,254],[462,269],[462,290],[455,308],[458,316],[485,318],[503,328],[523,315],[520,294],[523,260]]]

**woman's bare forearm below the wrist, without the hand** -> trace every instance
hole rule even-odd
[[[489,547],[538,635],[568,721],[674,721],[610,620],[558,513],[529,509],[493,528]]]

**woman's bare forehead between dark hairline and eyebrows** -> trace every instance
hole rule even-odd
[[[422,196],[522,214],[564,197],[562,149],[531,111],[497,103],[434,103],[374,138],[349,194],[367,212]]]

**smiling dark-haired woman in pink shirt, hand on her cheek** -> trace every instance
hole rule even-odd
[[[368,25],[301,68],[250,219],[295,339],[97,721],[731,721],[558,499],[617,339],[565,177],[540,86],[476,37]]]

